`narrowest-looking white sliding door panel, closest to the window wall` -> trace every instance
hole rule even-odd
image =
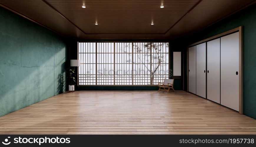
[[[196,94],[196,46],[189,47],[189,92]]]

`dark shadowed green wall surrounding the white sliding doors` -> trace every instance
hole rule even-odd
[[[188,45],[239,26],[243,26],[244,114],[256,119],[256,4],[176,42]]]

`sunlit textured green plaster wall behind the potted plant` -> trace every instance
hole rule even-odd
[[[63,40],[0,7],[0,116],[65,91]]]

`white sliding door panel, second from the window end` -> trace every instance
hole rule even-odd
[[[196,45],[196,95],[206,98],[206,43]]]

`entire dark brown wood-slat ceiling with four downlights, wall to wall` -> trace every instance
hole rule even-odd
[[[255,0],[0,0],[1,6],[78,39],[176,38],[253,3]]]

